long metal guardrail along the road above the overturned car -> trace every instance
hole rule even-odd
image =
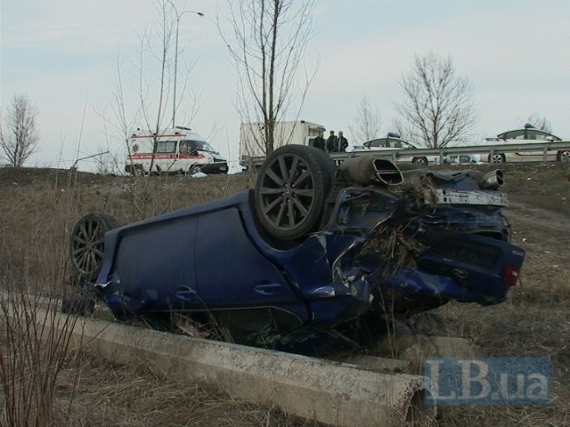
[[[570,149],[570,141],[560,142],[541,142],[541,143],[526,143],[526,144],[493,144],[493,145],[472,145],[461,147],[444,147],[437,149],[382,149],[382,150],[362,150],[352,151],[347,153],[330,153],[337,164],[341,163],[346,158],[363,156],[365,154],[378,154],[385,157],[391,157],[392,161],[397,162],[400,157],[425,157],[437,156],[439,163],[443,163],[446,156],[455,154],[479,154],[483,156],[493,156],[495,152],[513,153],[519,151],[541,151],[542,160],[547,160],[549,151],[560,151]],[[244,156],[241,159],[241,165],[246,167],[256,167],[261,165],[265,160],[265,156],[249,157]]]

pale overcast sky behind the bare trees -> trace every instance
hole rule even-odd
[[[179,70],[193,64],[189,87],[200,93],[187,125],[236,161],[237,81],[216,28],[226,2],[173,1],[179,11],[205,14],[186,13],[180,25]],[[65,168],[77,157],[121,149],[120,135],[105,125],[116,64],[138,59],[141,34],[156,25],[153,0],[4,0],[0,12],[1,107],[25,93],[39,109],[39,151],[27,165]],[[476,139],[518,128],[536,113],[568,140],[569,18],[569,0],[316,0],[305,62],[318,71],[299,118],[343,130],[355,142],[348,124],[366,95],[379,109],[381,133],[389,132],[413,55],[432,51],[450,55],[473,84]]]

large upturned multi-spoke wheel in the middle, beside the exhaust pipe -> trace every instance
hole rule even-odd
[[[261,165],[254,196],[256,214],[273,238],[295,240],[321,222],[332,183],[330,158],[323,154],[327,156],[314,147],[285,145]]]

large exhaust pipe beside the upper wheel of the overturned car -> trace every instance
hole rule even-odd
[[[390,160],[376,155],[347,158],[338,169],[346,180],[358,185],[398,185],[403,182],[400,169]]]

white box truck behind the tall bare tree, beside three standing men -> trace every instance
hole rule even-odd
[[[242,123],[240,126],[240,162],[248,168],[263,163],[265,158],[265,127],[263,122]],[[288,144],[313,145],[313,140],[325,127],[305,120],[283,121],[275,124],[274,149]]]

